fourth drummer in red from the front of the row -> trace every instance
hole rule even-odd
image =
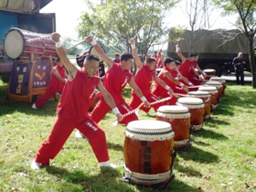
[[[162,58],[164,60],[164,56]],[[164,62],[165,67],[160,71],[158,74],[158,77],[160,80],[165,81],[165,83],[175,92],[175,93],[182,93],[182,94],[187,94],[187,86],[179,82],[176,78],[182,78],[181,75],[178,75],[176,71],[176,67],[174,67],[175,60],[172,58],[165,58]],[[177,87],[180,86],[180,87]],[[155,82],[152,93],[155,94],[157,97],[168,97],[167,92],[165,89],[158,83]],[[167,102],[168,104],[175,105],[176,104],[176,97],[173,97],[171,101]]]

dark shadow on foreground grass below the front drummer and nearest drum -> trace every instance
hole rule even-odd
[[[157,189],[153,189],[152,187],[128,184],[126,182],[120,181],[123,175],[117,169],[101,168],[101,173],[98,174],[97,176],[88,176],[87,174],[79,170],[69,172],[66,169],[54,166],[48,166],[46,167],[46,170],[48,174],[57,176],[59,180],[61,180],[62,182],[64,180],[74,185],[80,185],[83,191],[108,191],[112,189],[112,191],[132,192],[134,191],[134,187],[136,187],[137,190],[141,192],[158,191]],[[66,185],[63,184],[63,191],[65,191],[65,189],[67,190],[67,188],[64,188],[65,186]],[[80,191],[79,188],[80,187],[78,186],[77,188],[74,188],[73,191]],[[59,188],[59,190],[61,190],[61,188]],[[175,177],[169,182],[165,189],[161,189],[161,191],[173,190],[192,192],[197,191],[196,188],[189,187],[187,184],[179,180],[176,180]]]

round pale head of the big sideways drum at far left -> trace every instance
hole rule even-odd
[[[25,38],[18,29],[10,29],[5,35],[5,53],[10,59],[17,59],[25,47]]]

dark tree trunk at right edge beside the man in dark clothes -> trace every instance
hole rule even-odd
[[[256,89],[256,63],[253,48],[253,36],[248,37],[249,40],[249,61],[251,65],[252,88]]]

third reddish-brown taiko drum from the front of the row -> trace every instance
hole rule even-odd
[[[198,98],[182,97],[176,101],[176,105],[188,108],[190,112],[190,127],[194,131],[198,131],[203,127],[205,104]]]

